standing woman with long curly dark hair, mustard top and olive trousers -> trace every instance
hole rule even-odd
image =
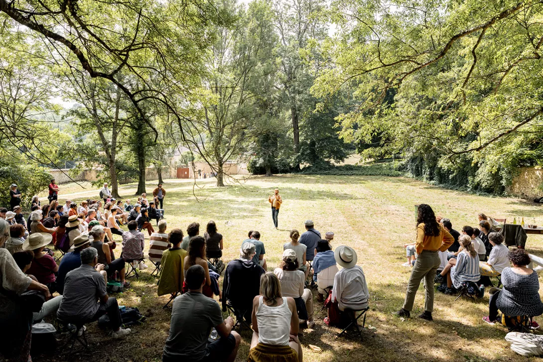
[[[416,291],[420,281],[424,279],[426,299],[424,313],[419,318],[431,321],[434,309],[434,277],[441,261],[438,251],[446,251],[454,243],[453,236],[445,230],[443,225],[435,220],[435,214],[430,205],[421,204],[416,218],[415,249],[419,257],[411,270],[411,277],[407,284],[407,293],[403,307],[396,312],[397,316],[409,317],[413,310]]]

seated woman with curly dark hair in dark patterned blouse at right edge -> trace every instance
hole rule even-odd
[[[543,314],[538,274],[527,267],[531,262],[528,253],[523,249],[513,249],[509,251],[508,257],[512,266],[502,271],[503,288],[490,289],[489,315],[483,317],[483,321],[491,325],[500,322],[497,319],[498,310],[513,317],[535,317]],[[532,321],[532,328],[539,328],[538,323]]]

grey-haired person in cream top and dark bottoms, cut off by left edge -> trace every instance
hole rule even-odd
[[[41,291],[46,299],[51,295],[46,285],[24,275],[9,251],[3,248],[8,238],[9,225],[0,219],[0,287],[9,292],[0,293],[0,354],[8,360],[28,361],[32,312],[22,308],[16,295],[27,290]]]

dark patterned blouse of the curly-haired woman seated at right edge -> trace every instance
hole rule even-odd
[[[508,316],[543,314],[543,303],[539,296],[538,274],[516,274],[511,268],[502,271],[503,289],[498,295],[496,306]]]

